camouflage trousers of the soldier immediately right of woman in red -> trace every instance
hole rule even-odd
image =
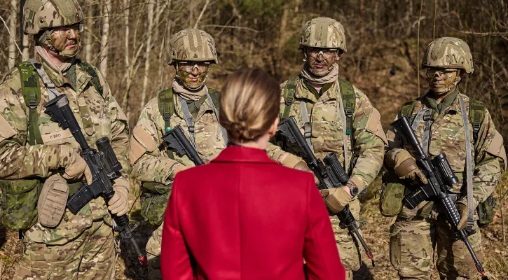
[[[360,202],[355,198],[349,203],[350,211],[355,219],[359,219],[360,215]],[[352,280],[352,271],[360,268],[362,253],[353,241],[348,229],[342,229],[338,226],[337,216],[331,216],[331,227],[334,229],[335,241],[338,248],[338,253],[341,255],[341,262],[345,268],[346,280]]]

